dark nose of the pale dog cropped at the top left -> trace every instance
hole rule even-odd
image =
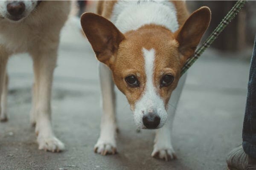
[[[12,2],[7,4],[7,11],[10,15],[18,17],[25,11],[25,4],[23,2]]]

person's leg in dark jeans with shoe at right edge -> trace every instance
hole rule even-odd
[[[228,168],[230,170],[256,170],[256,37],[250,65],[242,137],[243,144],[227,156]]]

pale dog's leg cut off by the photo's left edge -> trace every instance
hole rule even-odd
[[[6,64],[8,54],[3,47],[0,46],[0,121],[7,121],[7,83]]]

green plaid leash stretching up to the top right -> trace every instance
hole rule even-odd
[[[190,57],[183,68],[181,69],[181,76],[191,67],[191,65],[203,54],[204,50],[208,48],[212,42],[218,37],[219,34],[224,30],[224,28],[231,22],[231,20],[238,14],[241,8],[246,3],[246,0],[238,0],[233,8],[227,13],[221,23],[215,28],[212,34],[207,38],[207,40],[199,47],[194,56]]]

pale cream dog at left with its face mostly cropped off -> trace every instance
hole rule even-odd
[[[64,149],[52,131],[50,99],[59,35],[69,11],[67,1],[0,1],[0,120],[7,120],[8,58],[28,52],[35,73],[30,120],[39,149],[52,152]]]

